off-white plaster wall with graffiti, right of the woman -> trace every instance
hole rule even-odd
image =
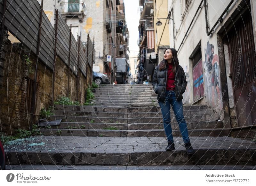
[[[173,3],[174,10],[174,33],[172,29],[172,23],[169,25],[170,30],[170,43],[173,43],[173,35],[175,36],[175,48],[179,49],[180,44],[185,36],[185,33],[188,30],[188,27],[196,13],[196,10],[199,6],[201,0],[192,1],[188,9],[186,10],[185,0],[168,1],[168,9],[171,10],[171,6]],[[220,4],[216,3],[213,0],[207,1],[207,13],[208,13],[208,24],[210,28],[213,24],[218,20],[218,16],[224,11],[225,7],[228,5],[230,1],[225,0],[221,1]],[[229,16],[236,11],[237,4],[239,4],[241,0],[237,0],[230,8],[229,14],[224,16],[223,22],[225,23]],[[219,112],[220,116],[223,113],[223,104],[222,104],[222,96],[224,92],[221,90],[220,85],[220,64],[219,64],[219,56],[218,53],[218,30],[221,28],[220,26],[215,27],[215,33],[210,36],[206,34],[206,25],[205,25],[205,13],[204,13],[204,3],[202,4],[201,9],[199,9],[196,18],[194,19],[193,24],[188,31],[187,37],[184,39],[183,44],[178,51],[178,58],[180,60],[180,65],[183,67],[188,85],[187,90],[184,93],[183,103],[185,105],[192,104],[194,102],[193,98],[193,71],[192,71],[192,63],[189,61],[189,57],[192,52],[195,50],[197,44],[201,42],[201,54],[203,61],[203,78],[204,78],[204,95],[205,97],[196,103],[202,105],[209,105],[209,107],[214,108],[217,112]],[[255,15],[254,15],[255,16]],[[224,48],[225,60],[229,61],[226,57],[227,50]],[[226,67],[229,65],[226,64]],[[230,79],[230,78],[229,78]],[[228,79],[228,89],[232,87],[232,81]],[[191,92],[192,91],[192,92]],[[229,94],[229,100],[231,100],[231,107],[234,106],[234,98],[231,94]],[[233,105],[232,105],[233,104]],[[224,118],[220,118],[224,120]]]

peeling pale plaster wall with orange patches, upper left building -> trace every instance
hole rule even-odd
[[[41,0],[38,0],[41,3]],[[61,9],[61,4],[68,2],[68,0],[58,1],[44,0],[44,12],[51,24],[54,25],[54,4],[56,3],[56,9]],[[94,47],[95,47],[95,66],[100,66],[100,72],[104,72],[103,67],[103,47],[107,43],[107,32],[105,30],[105,19],[106,19],[106,2],[102,0],[84,0],[86,4],[85,16],[82,22],[79,22],[77,17],[66,19],[67,25],[72,27],[78,27],[78,34],[81,32],[81,40],[87,41],[87,35],[90,32],[90,38],[93,41],[94,36]],[[60,13],[60,11],[59,11]],[[76,36],[75,36],[76,38]],[[106,45],[105,50],[108,50],[110,45]]]

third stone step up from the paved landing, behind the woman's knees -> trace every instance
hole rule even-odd
[[[217,121],[218,114],[204,114],[197,116],[184,116],[186,121]],[[122,118],[120,117],[92,117],[92,116],[49,116],[49,120],[59,120],[62,122],[91,122],[91,123],[158,123],[162,122],[163,117],[143,117],[143,118]],[[177,122],[174,116],[171,116],[171,123]]]

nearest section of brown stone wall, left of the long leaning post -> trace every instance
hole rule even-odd
[[[27,128],[30,114],[26,114],[26,93],[27,80],[34,78],[29,72],[32,72],[32,64],[26,64],[23,56],[24,50],[18,45],[5,42],[5,65],[3,69],[3,86],[0,88],[1,97],[1,125],[2,131],[13,133],[13,129]]]

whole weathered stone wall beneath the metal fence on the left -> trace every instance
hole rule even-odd
[[[21,49],[23,47],[23,49]],[[26,62],[23,57],[29,54],[29,50],[24,49],[22,43],[12,45],[10,41],[5,42],[5,60],[3,65],[2,86],[0,87],[1,110],[0,119],[2,132],[11,134],[14,129],[29,128],[29,121],[32,116],[29,112],[32,103],[32,95],[27,97],[29,89],[34,86],[30,82],[34,81],[36,55],[30,54],[31,63]],[[67,61],[62,61],[57,57],[55,62],[55,85],[54,85],[54,101],[59,97],[71,97],[76,100],[76,92],[78,91],[78,101],[84,103],[85,82],[86,78],[79,71],[79,86],[77,87],[77,76],[69,70]],[[90,69],[90,68],[88,68]],[[69,79],[69,95],[68,89],[68,73]],[[90,73],[89,73],[90,74]],[[89,75],[90,76],[90,75]],[[37,90],[36,90],[36,110],[37,117],[34,118],[33,124],[39,119],[39,113],[42,108],[48,108],[53,105],[52,101],[52,78],[53,72],[46,65],[39,61],[37,64]],[[87,81],[91,79],[87,78]],[[87,82],[90,85],[90,82]],[[28,107],[28,108],[27,108]]]

